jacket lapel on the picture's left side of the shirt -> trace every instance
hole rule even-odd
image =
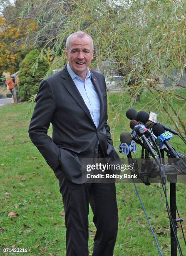
[[[62,69],[61,77],[63,78],[62,83],[64,87],[67,89],[67,91],[69,92],[69,94],[74,98],[74,100],[76,100],[77,104],[82,108],[82,110],[84,110],[84,112],[92,120],[89,109],[87,108],[87,105],[85,104],[81,94],[79,93],[76,85],[74,84],[72,78],[70,77],[66,67]],[[93,120],[92,122],[94,123]]]

